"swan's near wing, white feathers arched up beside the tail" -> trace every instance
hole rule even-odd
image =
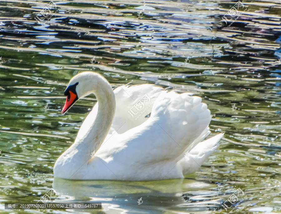
[[[150,118],[123,134],[132,156],[142,161],[178,161],[208,134],[210,110],[198,96],[162,91],[155,100]],[[129,151],[128,151],[129,152]]]

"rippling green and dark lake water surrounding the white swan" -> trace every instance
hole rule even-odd
[[[281,2],[238,3],[0,2],[1,213],[42,213],[4,202],[37,202],[52,187],[56,202],[103,209],[45,213],[281,213]],[[44,7],[52,8],[38,23]],[[115,87],[152,83],[202,97],[211,136],[225,132],[219,148],[185,179],[54,179],[56,159],[96,103],[91,95],[61,115],[65,87],[82,71]]]

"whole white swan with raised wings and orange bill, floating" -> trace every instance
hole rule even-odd
[[[198,170],[223,134],[210,133],[210,110],[190,93],[144,84],[120,86],[94,72],[74,76],[65,90],[64,114],[79,98],[95,94],[75,142],[56,161],[66,179],[161,180]],[[151,114],[149,115],[149,113]]]

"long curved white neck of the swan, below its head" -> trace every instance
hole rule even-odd
[[[85,155],[86,159],[90,159],[91,153],[97,152],[111,128],[116,103],[112,87],[106,79],[98,78],[94,85],[88,84],[85,87],[88,90],[88,94],[93,93],[96,95],[98,112],[96,118],[92,118],[93,123],[89,124],[90,127],[83,136],[83,139],[76,139],[73,145],[78,149],[80,155]]]

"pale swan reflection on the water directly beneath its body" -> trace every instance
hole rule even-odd
[[[53,180],[53,189],[59,196],[56,202],[101,202],[101,211],[104,213],[163,213],[164,210],[175,210],[176,207],[186,206],[182,193],[198,191],[198,189],[208,190],[214,186],[208,182],[192,179],[145,182],[78,181],[62,178]],[[142,202],[139,205],[140,198]],[[156,207],[158,208],[156,209]],[[93,211],[84,210],[84,212]]]

